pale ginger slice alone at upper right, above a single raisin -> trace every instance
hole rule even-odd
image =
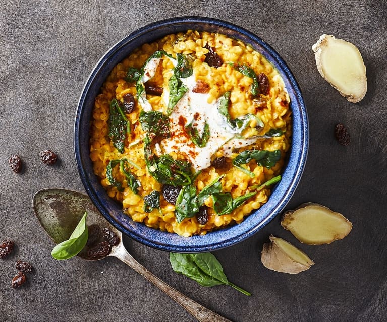
[[[352,103],[367,92],[366,68],[359,49],[343,39],[321,35],[312,46],[322,78]]]

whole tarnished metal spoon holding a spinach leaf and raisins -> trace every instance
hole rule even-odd
[[[121,232],[102,217],[87,195],[65,189],[43,189],[36,192],[34,195],[32,206],[39,223],[56,244],[67,240],[70,237],[83,214],[87,211],[86,223],[88,226],[97,224],[101,229],[108,227],[116,233],[120,239],[119,244],[113,246],[112,251],[107,256],[117,257],[119,260],[129,265],[137,273],[141,274],[161,291],[179,303],[198,321],[231,322],[227,318],[212,312],[199,303],[196,303],[188,296],[175,290],[138,263],[125,249],[125,246],[122,243]],[[82,250],[77,256],[84,260],[90,260],[87,258],[85,250]],[[102,258],[99,258],[98,260]]]

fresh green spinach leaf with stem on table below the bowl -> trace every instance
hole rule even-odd
[[[211,253],[170,253],[170,263],[175,272],[189,277],[202,286],[229,285],[245,295],[252,295],[228,281],[222,265]]]

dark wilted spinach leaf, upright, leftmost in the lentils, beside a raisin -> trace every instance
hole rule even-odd
[[[122,110],[121,102],[115,98],[110,102],[110,114],[107,124],[110,140],[112,140],[116,149],[123,153],[126,133],[130,133],[130,121]]]

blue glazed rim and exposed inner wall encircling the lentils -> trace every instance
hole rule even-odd
[[[186,238],[132,221],[128,215],[122,212],[122,205],[108,197],[93,172],[89,157],[89,126],[94,99],[102,83],[117,63],[144,43],[188,29],[226,34],[250,44],[255,50],[266,56],[279,71],[288,90],[291,99],[293,133],[282,180],[272,189],[266,204],[251,213],[238,225],[209,232],[204,236]],[[281,56],[250,31],[229,22],[205,17],[177,17],[161,20],[132,32],[115,44],[93,68],[82,90],[75,116],[75,158],[82,183],[92,202],[110,224],[127,236],[147,246],[171,252],[212,251],[239,243],[258,232],[284,209],[294,194],[305,167],[308,145],[308,116],[305,103],[295,77]]]

